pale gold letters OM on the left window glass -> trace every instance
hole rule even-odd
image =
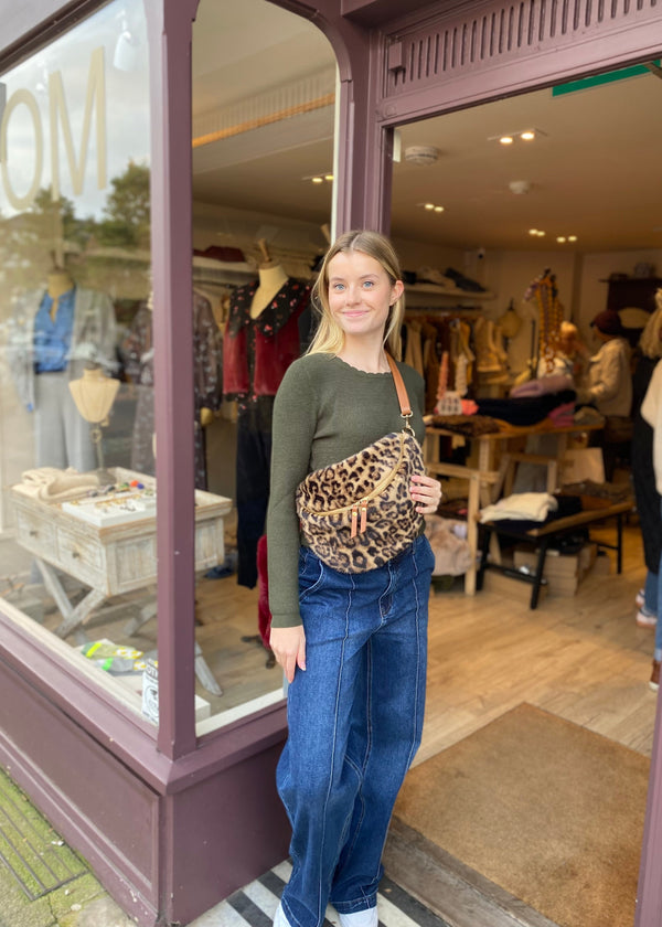
[[[51,129],[51,199],[53,202],[60,199],[60,136],[58,127],[62,126],[64,148],[68,163],[70,177],[74,194],[79,196],[83,192],[85,169],[87,166],[87,152],[89,148],[89,135],[92,126],[92,114],[96,109],[96,161],[97,161],[97,187],[103,190],[107,184],[106,170],[106,74],[104,67],[104,49],[95,49],[89,58],[89,72],[87,75],[87,88],[85,94],[85,113],[81,132],[79,158],[76,161],[74,140],[70,115],[64,94],[62,73],[54,71],[49,75],[49,98],[50,98],[50,129]],[[24,195],[20,195],[12,187],[9,173],[11,151],[8,151],[9,122],[14,109],[23,105],[32,117],[34,130],[34,170],[30,189]],[[15,157],[15,156],[14,156]],[[2,172],[2,184],[10,204],[15,210],[25,210],[32,205],[40,189],[44,162],[44,135],[39,103],[34,94],[25,88],[14,90],[7,100],[2,120],[0,121],[0,167]]]

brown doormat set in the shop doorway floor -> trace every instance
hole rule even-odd
[[[412,769],[395,817],[559,927],[632,924],[649,768],[524,703]]]

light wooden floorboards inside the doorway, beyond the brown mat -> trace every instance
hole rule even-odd
[[[592,539],[613,543],[610,528]],[[416,763],[528,702],[650,756],[656,695],[648,685],[654,632],[634,622],[645,568],[636,524],[626,526],[623,569],[590,572],[575,596],[547,596],[532,611],[481,592],[430,600],[426,723]]]

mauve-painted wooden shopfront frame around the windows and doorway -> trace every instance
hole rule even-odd
[[[388,233],[398,125],[650,62],[662,50],[655,0],[281,0],[276,6],[316,24],[337,56],[334,233],[352,227]],[[143,21],[141,125],[148,126],[159,448],[158,724],[99,686],[63,641],[51,640],[0,599],[0,760],[139,924],[186,924],[285,859],[289,839],[274,785],[286,736],[285,701],[202,736],[195,725],[190,126],[197,0],[1,0],[0,7],[0,167],[12,234],[24,231],[25,216],[34,215],[42,162],[50,163],[52,192],[57,170],[67,167],[66,158],[57,161],[53,146],[44,145],[49,120],[51,136],[58,131],[63,150],[70,151],[72,175],[83,170],[85,139],[98,132],[104,106],[110,114],[106,145],[110,152],[120,145],[111,122],[115,84],[104,83],[104,66],[110,65],[98,52],[99,36],[111,20],[124,28],[122,15]],[[21,71],[51,46],[61,49],[63,61],[81,56],[85,86],[78,103],[73,94],[67,98],[81,110],[78,121],[64,116],[65,94],[54,68],[49,68],[45,105],[36,79],[31,85],[25,76],[32,72]],[[15,79],[6,83],[4,75]],[[19,124],[24,131],[18,131]],[[88,147],[96,153],[100,188],[107,166],[96,139],[96,148]],[[20,143],[36,152],[26,185],[11,168],[11,148],[19,150]],[[662,924],[659,724],[658,717],[637,927]]]

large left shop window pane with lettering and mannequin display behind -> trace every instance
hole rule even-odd
[[[143,4],[0,77],[0,608],[130,708],[156,654]]]

